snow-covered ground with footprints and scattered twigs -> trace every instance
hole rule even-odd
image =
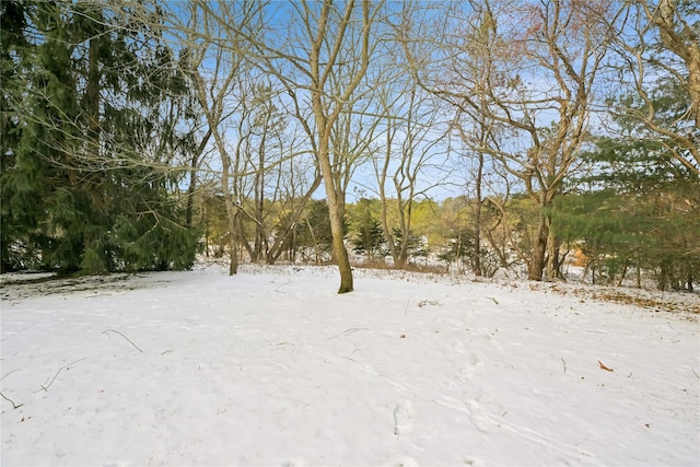
[[[16,279],[3,466],[700,464],[697,294],[359,269],[338,295],[335,269],[291,266]]]

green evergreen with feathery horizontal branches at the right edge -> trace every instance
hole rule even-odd
[[[658,118],[677,121],[688,100],[682,87],[669,83],[660,80],[650,95]],[[620,101],[629,107],[633,97]],[[617,122],[620,136],[599,138],[586,154],[595,171],[580,180],[584,190],[556,205],[558,233],[583,242],[595,281],[619,282],[634,270],[641,285],[641,271],[649,270],[662,290],[692,289],[700,271],[698,173],[669,156],[672,140],[638,138],[643,128],[628,116]]]

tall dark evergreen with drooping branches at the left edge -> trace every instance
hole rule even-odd
[[[22,4],[25,54],[3,55],[3,70],[26,63],[9,86],[21,137],[2,154],[3,264],[189,267],[199,233],[182,226],[170,170],[187,91],[164,42],[128,9]]]

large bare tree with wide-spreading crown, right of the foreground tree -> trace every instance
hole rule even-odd
[[[598,10],[609,9],[608,2],[596,4]],[[415,61],[416,74],[425,89],[463,115],[479,115],[506,128],[505,143],[491,139],[479,150],[520,179],[540,208],[527,258],[528,277],[541,280],[548,267],[549,278],[555,278],[557,240],[547,210],[578,164],[596,72],[610,34],[578,1],[495,0],[460,7],[453,5],[452,17],[459,17],[464,26],[443,25],[444,58]],[[475,57],[472,42],[485,36],[483,28],[488,55]],[[409,47],[406,50],[410,54]],[[488,67],[475,68],[475,58],[487,59]]]

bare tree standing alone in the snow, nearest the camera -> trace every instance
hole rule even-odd
[[[287,87],[299,109],[295,115],[310,137],[328,201],[332,250],[340,272],[339,293],[351,292],[353,280],[342,231],[345,194],[334,172],[338,161],[332,161],[331,137],[340,114],[368,72],[376,40],[372,26],[381,10],[381,2],[359,3],[325,0],[287,4],[282,8],[289,22],[269,40],[237,31],[255,46],[257,66]],[[349,63],[354,66],[349,68]]]

